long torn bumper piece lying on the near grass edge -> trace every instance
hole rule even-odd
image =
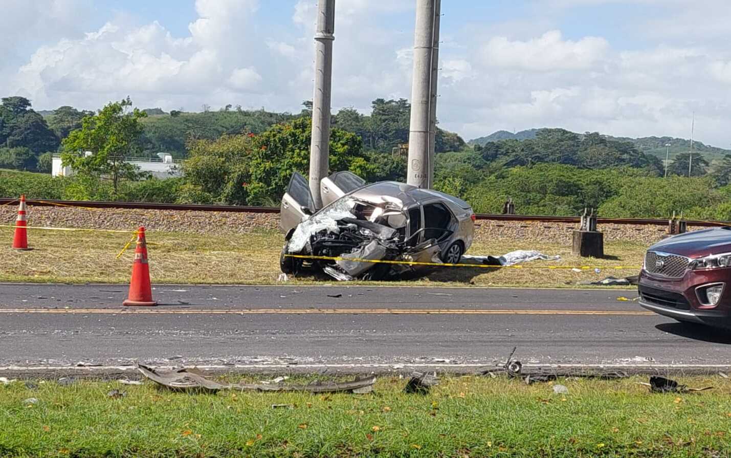
[[[200,369],[186,367],[170,371],[156,370],[151,367],[136,364],[142,374],[174,391],[216,391],[232,389],[238,391],[306,391],[310,393],[355,393],[366,394],[373,391],[376,377],[356,378],[349,382],[322,382],[317,381],[308,385],[287,385],[282,383],[219,383],[211,380],[211,375]]]

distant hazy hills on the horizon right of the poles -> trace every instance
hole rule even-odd
[[[522,130],[516,134],[507,132],[507,130],[499,130],[493,132],[491,135],[486,137],[475,138],[469,140],[470,145],[484,146],[485,143],[501,140],[528,140],[536,138],[536,132],[541,129],[528,129]],[[583,136],[583,134],[578,134]],[[659,159],[665,159],[666,146],[670,144],[670,159],[675,157],[675,154],[686,153],[690,151],[690,140],[685,138],[673,138],[673,137],[641,137],[641,138],[629,138],[629,137],[613,137],[611,135],[602,135],[609,140],[625,141],[635,145],[635,148],[642,151],[645,154],[651,154],[659,157]],[[700,152],[709,161],[720,160],[726,154],[731,154],[730,149],[717,148],[716,146],[708,146],[705,143],[695,140],[693,142],[693,151]]]

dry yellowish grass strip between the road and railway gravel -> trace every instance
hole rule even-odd
[[[128,282],[134,244],[116,258],[131,237],[124,233],[59,232],[29,230],[28,252],[10,249],[12,229],[0,228],[1,282]],[[213,236],[192,233],[148,233],[150,269],[159,283],[271,284],[279,277],[282,238],[268,230],[243,235]],[[506,287],[575,287],[577,282],[624,277],[638,269],[604,269],[604,266],[640,266],[645,245],[635,242],[605,244],[605,259],[578,258],[561,244],[523,241],[480,240],[471,254],[502,255],[515,249],[537,249],[547,255],[561,255],[561,261],[537,261],[526,267],[602,266],[574,272],[570,269],[480,269],[439,268],[409,285],[479,285]],[[292,282],[335,282],[330,277],[300,275]],[[394,284],[391,282],[390,284]],[[398,284],[398,283],[397,283]]]

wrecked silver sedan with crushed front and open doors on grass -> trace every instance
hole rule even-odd
[[[403,277],[420,266],[377,261],[458,263],[472,243],[474,212],[443,192],[397,181],[366,184],[350,172],[323,179],[320,191],[323,208],[315,211],[307,180],[295,173],[289,181],[279,221],[285,274],[307,267],[338,280]]]

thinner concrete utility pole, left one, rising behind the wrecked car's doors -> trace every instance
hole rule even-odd
[[[310,191],[317,209],[322,208],[320,180],[330,167],[330,98],[333,90],[333,41],[335,0],[319,0],[315,34],[315,88],[312,97],[310,143]]]

